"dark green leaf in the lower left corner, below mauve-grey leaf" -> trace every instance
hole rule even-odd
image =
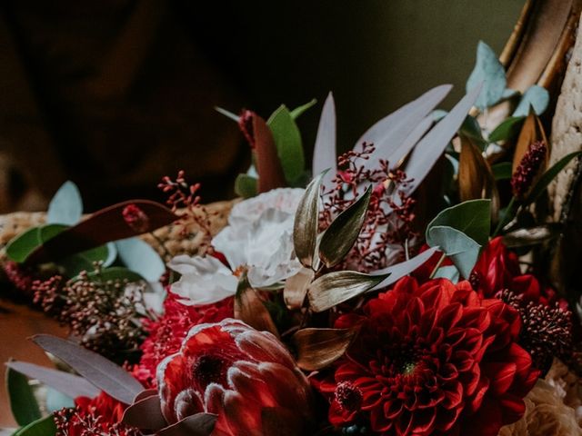
[[[29,424],[42,416],[28,379],[8,367],[6,367],[6,391],[12,415],[18,425]]]

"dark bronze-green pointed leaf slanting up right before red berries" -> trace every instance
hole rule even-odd
[[[327,268],[339,263],[349,253],[366,220],[372,186],[326,228],[319,243],[319,257]]]

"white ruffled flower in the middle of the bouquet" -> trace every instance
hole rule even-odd
[[[185,304],[209,304],[236,293],[238,276],[263,288],[296,274],[301,264],[293,247],[293,223],[302,189],[276,189],[236,204],[229,225],[212,240],[232,269],[211,256],[176,256],[168,266],[179,272],[172,292]]]

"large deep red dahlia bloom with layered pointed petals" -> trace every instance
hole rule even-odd
[[[361,331],[333,381],[317,386],[333,424],[368,421],[386,436],[495,436],[523,415],[538,372],[505,302],[481,300],[468,282],[406,277],[364,313],[337,319]]]

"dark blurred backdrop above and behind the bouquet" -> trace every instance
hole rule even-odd
[[[249,151],[214,111],[336,97],[338,148],[437,84],[465,91],[482,39],[500,53],[524,0],[0,2],[0,213],[77,183],[87,211],[184,169],[206,202],[234,195]],[[310,161],[310,158],[307,159]]]

